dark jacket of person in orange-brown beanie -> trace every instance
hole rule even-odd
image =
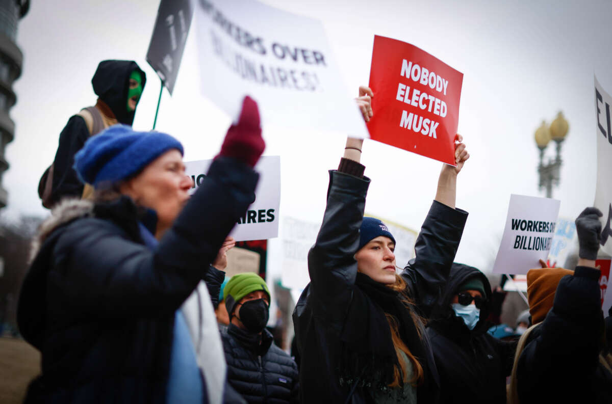
[[[564,276],[553,308],[531,330],[517,365],[521,404],[612,403],[612,372],[599,360],[603,314],[600,271]]]

